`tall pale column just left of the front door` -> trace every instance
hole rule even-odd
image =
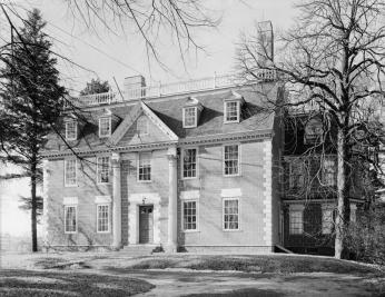
[[[112,247],[121,246],[120,155],[112,152]]]

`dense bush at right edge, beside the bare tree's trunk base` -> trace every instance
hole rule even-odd
[[[351,222],[346,247],[356,260],[385,265],[385,206],[375,206]]]

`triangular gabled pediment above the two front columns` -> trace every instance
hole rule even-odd
[[[119,142],[137,145],[170,140],[177,141],[178,136],[142,101],[130,109],[111,136],[113,145]]]

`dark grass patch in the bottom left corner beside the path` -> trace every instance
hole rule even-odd
[[[155,286],[139,279],[85,273],[0,270],[0,296],[131,296]]]

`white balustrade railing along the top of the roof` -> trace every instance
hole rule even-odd
[[[273,81],[276,78],[276,73],[272,70],[260,70],[258,77],[260,81]],[[113,91],[80,96],[77,98],[71,98],[70,101],[77,107],[90,107],[118,103],[142,98],[157,98],[170,95],[188,93],[192,91],[214,90],[231,86],[240,86],[244,83],[245,81],[240,80],[236,76],[224,75],[167,85],[159,83],[157,86],[125,90],[122,93]]]

